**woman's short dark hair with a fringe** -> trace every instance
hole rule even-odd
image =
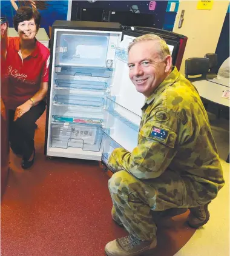
[[[38,30],[41,22],[41,14],[37,10],[33,10],[28,6],[18,8],[16,15],[13,17],[13,26],[16,32],[18,32],[18,24],[22,21],[30,21],[35,19],[36,29]]]

